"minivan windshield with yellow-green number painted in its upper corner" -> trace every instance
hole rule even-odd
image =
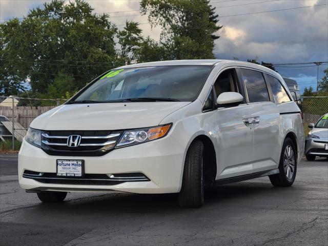
[[[111,70],[70,103],[192,101],[211,66],[160,66]]]

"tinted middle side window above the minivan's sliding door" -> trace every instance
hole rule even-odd
[[[270,101],[269,92],[263,74],[249,69],[240,69],[250,103]]]

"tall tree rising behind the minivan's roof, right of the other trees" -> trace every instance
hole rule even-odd
[[[208,0],[141,0],[152,27],[161,25],[160,43],[170,59],[215,58],[218,15]]]

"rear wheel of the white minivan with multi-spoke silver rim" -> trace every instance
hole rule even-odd
[[[270,181],[276,187],[293,185],[297,170],[297,155],[294,142],[290,138],[284,140],[279,162],[279,173],[270,175]]]

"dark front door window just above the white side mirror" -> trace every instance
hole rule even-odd
[[[214,84],[216,96],[223,92],[238,92],[235,69],[224,70]]]

